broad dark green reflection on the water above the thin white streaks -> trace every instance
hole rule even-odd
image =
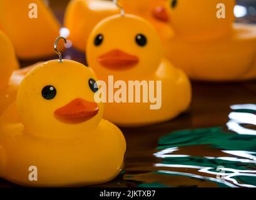
[[[158,144],[158,149],[208,144],[218,149],[255,151],[256,136],[229,133],[217,127],[175,131],[160,138]]]

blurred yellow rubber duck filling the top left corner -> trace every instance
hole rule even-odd
[[[38,18],[29,17],[29,14],[35,16],[34,5],[37,5]],[[41,0],[0,0],[0,30],[11,39],[20,59],[54,54],[53,42],[59,36],[59,29],[59,22]]]

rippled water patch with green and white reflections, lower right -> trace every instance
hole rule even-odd
[[[141,187],[256,187],[256,104],[230,108],[227,128],[167,134],[150,172],[124,178]]]

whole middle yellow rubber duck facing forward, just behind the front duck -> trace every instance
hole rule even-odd
[[[133,80],[146,81],[145,84],[149,81],[161,83],[158,99],[161,105],[156,109],[150,107],[151,102],[124,103],[129,98],[126,91],[127,95],[123,96],[121,103],[107,101],[104,118],[111,122],[120,126],[159,123],[175,118],[188,108],[191,100],[190,81],[182,70],[163,58],[160,37],[145,19],[130,14],[104,19],[91,32],[86,50],[89,66],[108,86],[111,86],[110,76],[114,81],[124,81],[123,85],[126,86]],[[158,93],[154,86],[155,93]],[[148,87],[149,90],[152,88]],[[111,91],[108,91],[109,95]]]

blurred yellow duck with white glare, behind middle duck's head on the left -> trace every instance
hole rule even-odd
[[[111,1],[71,0],[66,8],[64,27],[70,31],[69,39],[73,46],[84,52],[93,27],[105,17],[118,13],[118,8]]]

